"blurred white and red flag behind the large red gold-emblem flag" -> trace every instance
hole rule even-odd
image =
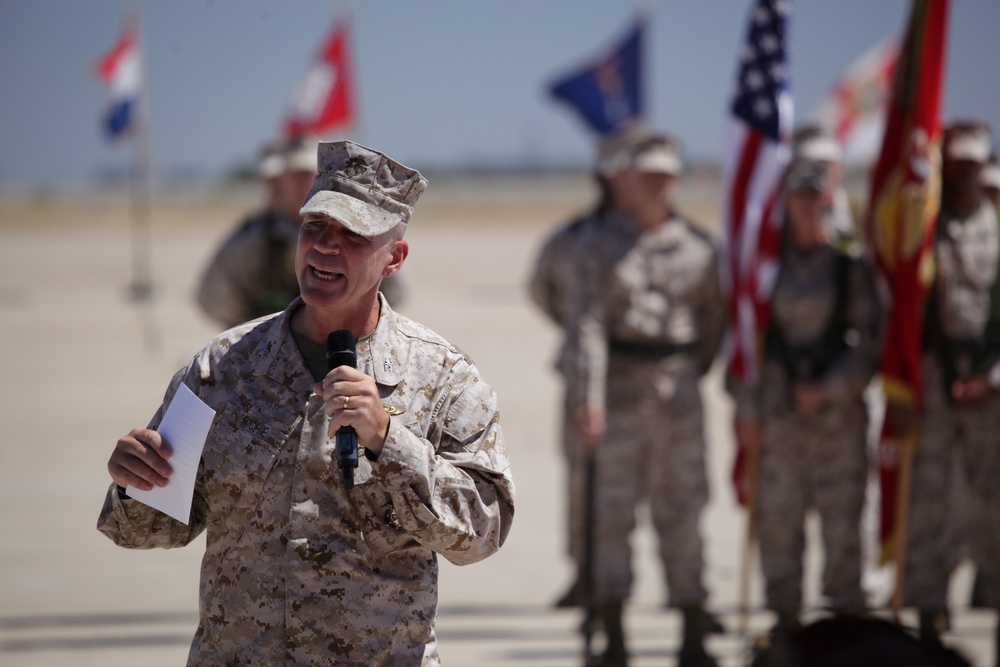
[[[868,165],[878,157],[898,58],[894,37],[876,44],[847,68],[813,112],[812,118],[840,142],[845,164]]]

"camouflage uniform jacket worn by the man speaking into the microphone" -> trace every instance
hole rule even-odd
[[[466,356],[382,299],[358,367],[394,416],[347,490],[290,333],[300,305],[213,340],[150,423],[181,382],[217,411],[190,526],[112,485],[98,527],[129,548],[207,531],[189,665],[437,665],[437,554],[474,563],[510,530],[496,396]]]

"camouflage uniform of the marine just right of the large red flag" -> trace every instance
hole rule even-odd
[[[966,220],[944,209],[938,217],[904,579],[906,603],[921,609],[946,608],[948,579],[961,555],[956,541],[966,537],[955,530],[963,514],[982,602],[1000,608],[1000,395],[958,408],[946,393],[951,381],[974,373],[1000,389],[1000,347],[995,341],[985,353],[974,349],[986,342],[991,320],[997,227],[997,213],[985,201]],[[956,480],[965,488],[956,490]],[[956,505],[963,496],[969,507]]]

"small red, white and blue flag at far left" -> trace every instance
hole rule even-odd
[[[119,139],[135,131],[142,96],[142,56],[135,16],[128,16],[121,37],[97,63],[97,76],[108,87],[108,108],[102,119],[109,139]]]

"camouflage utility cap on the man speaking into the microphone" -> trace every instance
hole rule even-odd
[[[318,213],[362,236],[407,223],[427,189],[420,172],[353,141],[323,141],[319,173],[301,215]]]

